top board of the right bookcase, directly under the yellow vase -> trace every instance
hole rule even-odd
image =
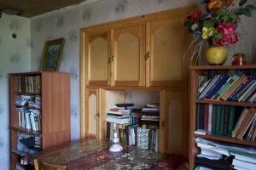
[[[256,69],[256,65],[193,65],[192,70],[243,70]]]

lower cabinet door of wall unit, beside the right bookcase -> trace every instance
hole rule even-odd
[[[160,92],[160,152],[187,156],[187,92]]]

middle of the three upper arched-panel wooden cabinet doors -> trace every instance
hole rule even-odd
[[[113,29],[113,85],[145,86],[144,24]]]

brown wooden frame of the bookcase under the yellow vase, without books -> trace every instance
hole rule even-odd
[[[200,85],[200,77],[201,76],[206,76],[210,77],[211,72],[214,72],[216,75],[224,75],[224,74],[229,74],[229,75],[234,75],[234,74],[240,74],[241,75],[246,74],[247,77],[255,74],[256,71],[256,65],[194,65],[190,67],[191,75],[190,75],[190,128],[189,128],[189,169],[194,169],[195,167],[195,157],[197,154],[200,153],[200,148],[197,147],[195,143],[195,138],[201,138],[201,139],[210,139],[212,141],[218,141],[224,144],[238,144],[239,146],[250,146],[250,147],[256,147],[255,141],[249,141],[247,139],[236,139],[231,137],[230,135],[224,135],[224,134],[215,134],[212,132],[206,132],[206,134],[195,134],[195,131],[197,130],[198,126],[198,115],[200,106],[198,105],[212,105],[212,107],[215,105],[215,107],[224,107],[228,108],[228,111],[231,107],[234,108],[240,108],[241,111],[244,108],[247,108],[250,110],[250,108],[255,108],[256,103],[254,102],[249,102],[249,101],[244,101],[244,102],[239,102],[236,100],[232,99],[198,99],[200,94],[198,93],[198,89],[201,87]],[[222,86],[221,86],[222,87]],[[232,83],[230,85],[230,88],[232,87]],[[240,87],[240,86],[239,86]],[[213,88],[210,88],[210,90]],[[227,88],[228,90],[229,88]],[[236,88],[237,89],[237,88]],[[238,93],[239,91],[235,91],[235,93]],[[225,93],[225,92],[224,92]],[[238,95],[238,94],[236,94]],[[237,110],[238,110],[237,109]],[[215,110],[216,112],[217,109]],[[205,114],[207,111],[203,110],[203,114]],[[231,111],[230,111],[231,112]],[[229,113],[224,113],[221,112],[219,113],[219,116],[223,116],[222,114],[230,114]],[[237,117],[241,116],[241,112],[236,112],[234,114],[238,114]],[[240,115],[239,115],[240,114]],[[230,116],[229,116],[230,117]],[[216,118],[217,120],[218,118]],[[239,118],[236,119],[232,127],[232,131],[236,127],[236,123],[238,122]],[[220,122],[220,121],[219,121]],[[212,122],[213,123],[213,122]],[[223,123],[223,122],[220,122]],[[226,123],[226,122],[224,122]],[[217,125],[216,125],[217,126]],[[218,126],[224,126],[224,125],[218,125]],[[213,125],[212,125],[213,127]],[[247,135],[247,133],[245,133]]]

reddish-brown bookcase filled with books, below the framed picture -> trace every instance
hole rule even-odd
[[[9,95],[10,169],[33,169],[20,160],[70,142],[70,76],[48,71],[11,73]],[[32,148],[25,146],[29,138],[36,140]]]

